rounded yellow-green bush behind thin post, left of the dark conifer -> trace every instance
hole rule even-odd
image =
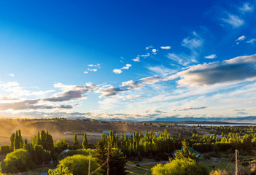
[[[62,166],[64,169],[67,168],[66,173],[71,173],[74,175],[88,174],[88,163],[89,156],[85,155],[73,155],[64,158],[59,162],[59,167]],[[96,170],[100,165],[98,165],[96,158],[90,158],[90,170],[91,172]],[[96,174],[99,174],[98,172]]]

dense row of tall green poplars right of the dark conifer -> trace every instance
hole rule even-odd
[[[168,154],[175,150],[175,141],[167,131],[164,133],[134,132],[129,136],[121,133],[120,139],[112,131],[109,136],[103,133],[101,140],[105,144],[109,142],[112,147],[120,148],[128,158],[161,156],[168,159]]]

